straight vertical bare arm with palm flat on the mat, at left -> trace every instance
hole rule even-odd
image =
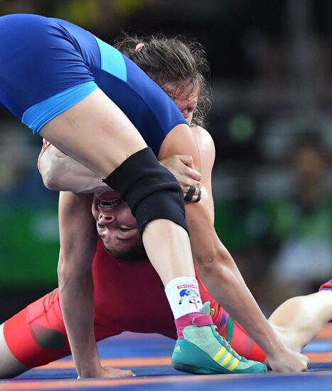
[[[93,321],[92,259],[97,237],[91,203],[90,194],[60,193],[58,279],[65,328],[79,377],[132,376],[130,370],[100,365]]]

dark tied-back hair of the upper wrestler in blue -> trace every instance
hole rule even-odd
[[[136,45],[144,43],[140,50]],[[129,36],[124,34],[112,43],[162,88],[166,83],[190,85],[198,90],[198,105],[193,112],[193,124],[205,126],[205,117],[211,107],[211,90],[208,82],[210,67],[203,46],[187,42],[182,37]],[[168,93],[167,90],[165,90]]]

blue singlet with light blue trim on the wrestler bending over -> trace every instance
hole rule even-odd
[[[0,17],[0,103],[33,133],[100,87],[158,154],[186,123],[137,65],[73,23],[31,14]]]

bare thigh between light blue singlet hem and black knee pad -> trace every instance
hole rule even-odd
[[[132,122],[100,89],[51,119],[40,134],[100,178],[146,147]]]

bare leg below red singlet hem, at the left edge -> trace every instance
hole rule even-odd
[[[21,364],[9,350],[4,338],[4,323],[0,325],[0,378],[15,377],[31,368]]]

